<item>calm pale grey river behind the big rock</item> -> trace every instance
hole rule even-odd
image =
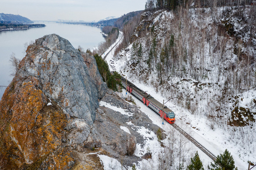
[[[80,45],[84,50],[97,47],[99,42],[104,41],[101,29],[84,25],[72,25],[62,23],[43,23],[46,27],[31,28],[28,30],[18,30],[0,32],[0,85],[8,86],[12,80],[10,56],[12,53],[19,59],[26,55],[27,45],[36,39],[47,34],[58,34],[69,40],[74,48]],[[0,99],[5,88],[0,88]]]

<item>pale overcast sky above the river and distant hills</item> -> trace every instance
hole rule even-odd
[[[0,13],[31,20],[98,21],[109,16],[144,10],[146,0],[0,0]]]

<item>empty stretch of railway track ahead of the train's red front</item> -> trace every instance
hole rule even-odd
[[[203,147],[199,142],[197,142],[193,137],[188,135],[185,131],[183,131],[180,127],[178,127],[176,124],[171,124],[177,131],[179,131],[182,135],[184,135],[188,140],[190,140],[194,145],[196,145],[201,151],[203,151],[208,157],[210,157],[212,160],[216,160],[217,158],[212,154],[210,151],[208,151],[205,147]]]

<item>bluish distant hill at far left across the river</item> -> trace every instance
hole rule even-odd
[[[31,24],[33,21],[26,17],[13,14],[0,13],[0,23],[1,24]]]

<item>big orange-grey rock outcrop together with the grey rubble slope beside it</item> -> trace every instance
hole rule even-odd
[[[28,46],[0,101],[0,170],[102,170],[101,155],[128,168],[142,160],[137,144],[157,138],[137,132],[144,127],[159,129],[107,90],[93,56],[46,35]]]

